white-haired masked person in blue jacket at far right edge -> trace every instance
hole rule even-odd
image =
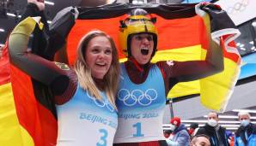
[[[235,146],[256,145],[256,126],[251,123],[251,115],[247,112],[238,113],[241,126],[235,131]]]

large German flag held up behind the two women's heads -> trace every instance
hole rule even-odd
[[[194,4],[175,5],[133,5],[116,3],[97,8],[80,8],[76,25],[68,37],[67,53],[69,63],[76,59],[76,48],[82,36],[94,29],[107,32],[113,37],[119,49],[119,20],[124,20],[125,15],[134,8],[142,8],[156,17],[155,26],[158,29],[157,53],[152,61],[189,61],[204,60],[208,45],[206,29],[211,30],[211,36],[222,45],[224,52],[224,66],[222,73],[201,79],[179,83],[169,92],[168,97],[174,98],[200,93],[201,102],[205,107],[214,110],[223,110],[233,91],[239,74],[240,55],[233,42],[235,28],[229,29],[212,27],[214,22],[210,17],[204,19],[196,14]],[[206,20],[205,20],[206,19]],[[217,19],[217,17],[216,17]],[[224,20],[228,23],[229,20]],[[206,23],[205,23],[206,22]],[[231,21],[233,24],[233,22]],[[231,25],[232,26],[232,25]],[[234,25],[235,26],[235,25]],[[233,47],[232,47],[233,46]],[[125,56],[119,51],[120,61]]]

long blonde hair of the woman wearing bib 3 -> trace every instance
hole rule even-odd
[[[78,44],[77,49],[77,59],[74,66],[74,69],[77,74],[78,83],[82,87],[84,91],[88,91],[92,96],[94,96],[96,99],[101,100],[101,94],[98,88],[96,87],[94,83],[94,79],[91,75],[91,69],[88,67],[88,64],[86,63],[86,55],[85,52],[88,47],[88,43],[91,39],[103,36],[106,37],[112,46],[112,61],[111,66],[109,67],[106,75],[104,76],[104,91],[107,94],[108,100],[111,102],[114,108],[115,106],[115,96],[116,92],[118,90],[119,85],[119,55],[116,49],[116,46],[113,42],[113,38],[107,35],[105,32],[101,32],[99,30],[94,30],[91,32],[88,32],[86,35],[83,36],[83,38],[80,40],[80,43]]]

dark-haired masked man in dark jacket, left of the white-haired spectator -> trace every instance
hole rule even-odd
[[[216,112],[210,112],[207,119],[208,122],[205,126],[198,129],[196,135],[204,134],[210,137],[211,146],[229,146],[226,129],[218,124],[218,114]]]

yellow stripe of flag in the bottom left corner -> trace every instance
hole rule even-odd
[[[0,85],[0,143],[2,146],[33,146],[34,141],[19,124],[11,84]]]

